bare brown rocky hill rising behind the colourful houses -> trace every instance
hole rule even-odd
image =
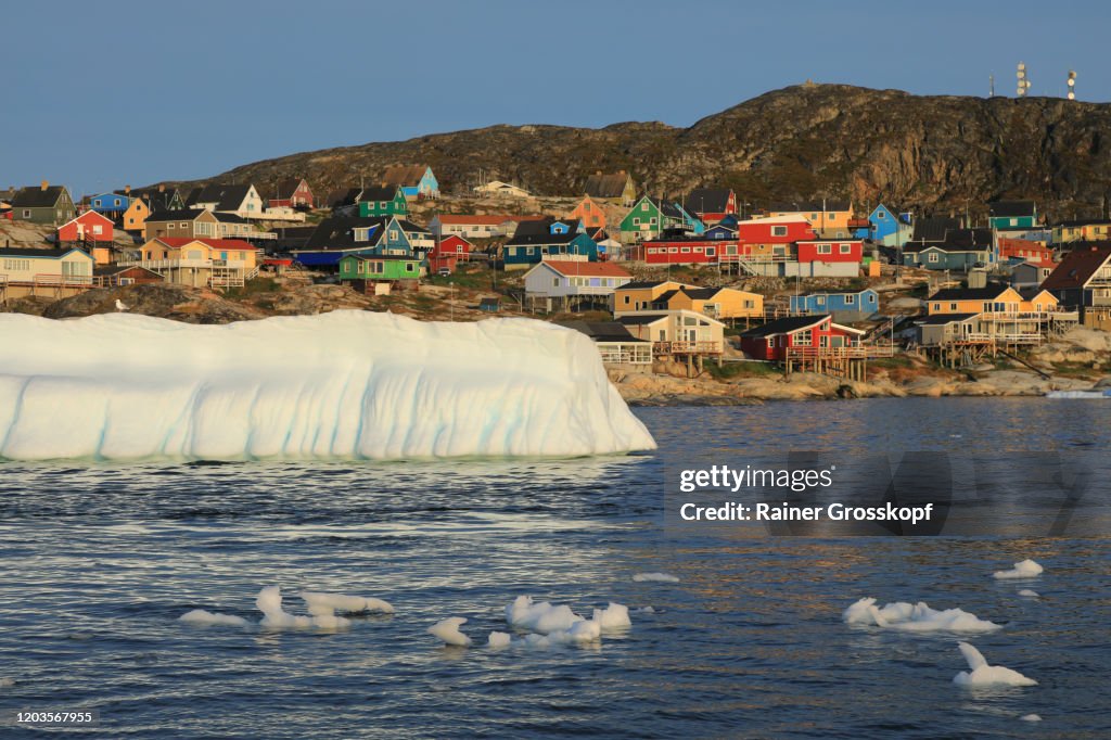
[[[360,176],[372,182],[391,163],[428,162],[449,193],[468,190],[481,168],[539,194],[573,194],[595,170],[625,169],[653,194],[721,183],[757,203],[851,197],[860,204],[882,199],[973,213],[993,199],[1029,197],[1064,218],[1103,207],[1111,189],[1109,141],[1107,103],[807,83],[685,129],[658,122],[494,126],[290,154],[212,180],[264,188],[301,176],[327,192],[357,184]]]

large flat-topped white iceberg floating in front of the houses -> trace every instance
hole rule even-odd
[[[0,314],[0,458],[577,457],[655,449],[593,342],[531,319],[224,326]]]

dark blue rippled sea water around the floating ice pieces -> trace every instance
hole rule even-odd
[[[1111,403],[638,414],[659,452],[0,463],[0,682],[13,681],[0,686],[0,709],[92,708],[101,727],[90,732],[137,738],[1111,736],[1111,548],[1092,527],[1054,538],[1038,523],[955,538],[754,538],[665,526],[663,484],[669,467],[708,451],[735,462],[931,450],[994,460],[993,482],[1010,492],[990,511],[1005,522],[1009,507],[1021,508],[1014,491],[1038,478],[1031,451],[1085,453],[1083,466],[1107,479]],[[1093,491],[1072,514],[1078,527],[1099,521],[1085,507],[1107,502],[1105,483]],[[1047,494],[1043,504],[1059,519],[1059,501]],[[1025,558],[1044,574],[991,578]],[[680,582],[632,580],[653,571]],[[282,587],[290,611],[303,613],[303,588],[383,598],[397,613],[340,632],[178,621],[194,608],[258,621],[254,596],[268,584]],[[1041,598],[1020,598],[1021,588]],[[591,648],[483,647],[522,593],[587,613],[609,601],[654,613],[632,613],[628,633]],[[842,623],[842,610],[868,596],[1003,623],[971,641],[1039,686],[954,686],[962,638]],[[450,616],[468,618],[476,647],[446,649],[426,633]],[[1029,713],[1042,721],[1019,719]]]

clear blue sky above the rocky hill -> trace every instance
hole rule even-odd
[[[812,78],[1111,99],[1102,2],[207,0],[6,7],[0,187],[74,196],[493,123],[687,126]],[[791,8],[785,6],[790,4]]]

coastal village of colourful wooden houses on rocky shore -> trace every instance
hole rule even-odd
[[[589,336],[652,402],[1091,388],[1111,350],[1111,218],[1032,199],[894,203],[669,197],[625,171],[537,196],[441,193],[398,164],[304,178],[0,191],[0,310],[223,322],[334,309],[528,316]]]

